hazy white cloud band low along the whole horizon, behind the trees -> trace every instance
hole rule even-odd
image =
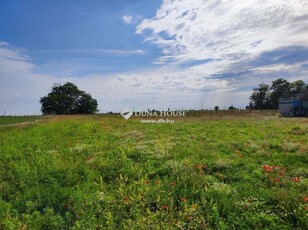
[[[252,88],[261,82],[270,83],[278,77],[308,80],[308,72],[302,71],[300,65],[281,64],[255,68],[252,73],[236,77],[209,76],[209,73],[229,68],[231,60],[212,62],[208,66],[212,69],[206,71],[204,64],[181,70],[168,67],[109,76],[77,77],[74,71],[67,71],[59,78],[38,74],[44,72],[41,68],[45,67],[35,65],[27,53],[0,42],[0,113],[4,110],[7,114],[40,113],[40,97],[46,95],[54,83],[67,81],[97,99],[101,112],[119,112],[125,107],[136,110],[213,108],[215,105],[228,108],[232,104],[244,107]]]

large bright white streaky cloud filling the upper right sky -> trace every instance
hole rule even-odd
[[[282,46],[307,46],[307,9],[305,0],[164,0],[136,33],[162,49],[160,63],[215,59],[232,64]]]

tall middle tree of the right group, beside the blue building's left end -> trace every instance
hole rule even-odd
[[[272,82],[271,89],[271,105],[273,109],[279,108],[279,98],[282,96],[290,96],[290,82],[285,79],[279,78]]]

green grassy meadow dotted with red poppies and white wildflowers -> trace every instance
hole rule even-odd
[[[0,229],[308,229],[308,119],[0,127]]]

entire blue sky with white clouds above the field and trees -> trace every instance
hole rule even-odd
[[[72,82],[101,113],[244,108],[308,83],[306,0],[0,0],[0,114],[40,114]]]

